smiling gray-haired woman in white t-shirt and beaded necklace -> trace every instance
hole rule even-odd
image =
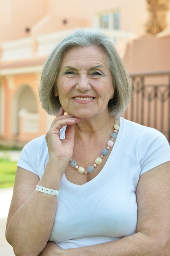
[[[170,146],[119,117],[132,86],[112,41],[69,35],[39,93],[56,117],[18,161],[6,230],[15,255],[170,255]]]

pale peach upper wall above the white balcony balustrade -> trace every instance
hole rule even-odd
[[[1,0],[0,42],[75,27],[96,27],[100,13],[121,11],[121,30],[144,33],[144,0]],[[67,20],[64,24],[63,21]],[[30,28],[30,32],[26,32]]]

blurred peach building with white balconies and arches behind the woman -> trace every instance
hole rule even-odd
[[[145,34],[144,0],[0,0],[0,4],[0,139],[26,143],[49,129],[54,117],[41,108],[38,98],[42,65],[55,45],[79,27],[104,29],[129,72],[140,71],[140,61],[138,65],[134,61],[142,51],[134,54],[132,45],[136,47],[137,38]],[[168,65],[163,68],[170,69]]]

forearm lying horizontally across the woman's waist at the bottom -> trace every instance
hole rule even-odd
[[[53,253],[53,254],[52,254]],[[169,256],[170,251],[165,248],[161,239],[138,232],[113,242],[102,243],[87,247],[64,249],[51,245],[49,254],[42,256]]]

